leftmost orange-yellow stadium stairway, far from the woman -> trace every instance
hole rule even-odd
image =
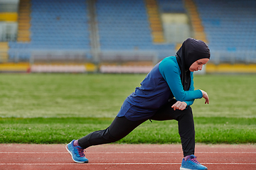
[[[31,3],[30,0],[21,0],[18,6],[18,42],[30,42],[30,21]]]

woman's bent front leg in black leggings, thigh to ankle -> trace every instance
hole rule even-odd
[[[168,103],[164,108],[161,108],[151,120],[177,120],[178,121],[178,133],[181,136],[181,145],[183,149],[183,155],[194,154],[195,152],[195,128],[193,122],[193,113],[190,106],[187,109],[180,111],[174,111],[171,106],[176,100]]]

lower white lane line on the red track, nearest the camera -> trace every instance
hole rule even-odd
[[[181,163],[88,163],[88,164],[0,164],[0,165],[85,165],[85,166],[89,166],[89,165],[171,165],[171,164],[181,164]],[[206,163],[201,163],[201,164],[223,164],[223,165],[256,165],[256,163],[235,163],[235,162],[224,162],[224,163],[210,163],[210,162],[206,162]]]

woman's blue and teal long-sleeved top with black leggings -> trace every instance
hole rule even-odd
[[[180,76],[181,70],[176,57],[166,57],[156,64],[142,81],[141,86],[125,99],[110,127],[82,137],[78,140],[80,147],[85,149],[92,145],[116,142],[149,119],[174,119],[178,120],[184,157],[194,154],[195,130],[190,105],[195,98],[202,98],[203,94],[200,90],[194,91],[193,72],[191,72],[189,91],[183,90]],[[174,111],[171,106],[176,100],[185,101],[187,108],[183,111]]]

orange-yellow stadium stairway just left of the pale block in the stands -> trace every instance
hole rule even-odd
[[[153,42],[155,43],[165,42],[163,26],[161,23],[156,0],[146,0],[145,2],[146,2],[146,11],[149,16],[149,23],[151,27]]]

